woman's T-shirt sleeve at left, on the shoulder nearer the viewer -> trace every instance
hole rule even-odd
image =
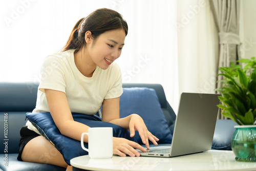
[[[57,90],[66,93],[65,64],[60,57],[47,56],[41,67],[41,80],[38,89]]]

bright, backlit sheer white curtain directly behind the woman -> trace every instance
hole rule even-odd
[[[129,25],[119,64],[123,82],[160,83],[177,108],[176,1],[12,0],[0,2],[0,81],[38,82],[42,60],[58,52],[81,17],[98,8],[120,12]]]

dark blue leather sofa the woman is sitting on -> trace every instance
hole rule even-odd
[[[176,114],[166,100],[160,84],[123,83],[123,88],[146,87],[155,89],[169,130],[173,133]],[[35,108],[38,83],[0,82],[0,170],[66,170],[50,164],[20,162],[16,159],[19,148],[19,130],[25,125],[25,114]],[[231,136],[236,125],[231,120],[217,120],[212,149],[231,149]]]

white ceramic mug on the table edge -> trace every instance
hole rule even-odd
[[[83,145],[83,136],[88,135],[88,148]],[[81,147],[91,159],[107,159],[113,156],[113,128],[90,127],[88,133],[81,135]]]

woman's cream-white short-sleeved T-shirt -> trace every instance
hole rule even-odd
[[[33,113],[50,112],[45,89],[66,93],[72,113],[93,115],[99,111],[103,99],[121,96],[121,71],[114,62],[106,70],[96,67],[93,76],[86,77],[75,65],[74,50],[68,50],[45,58]],[[28,121],[26,125],[39,133],[31,122]]]

